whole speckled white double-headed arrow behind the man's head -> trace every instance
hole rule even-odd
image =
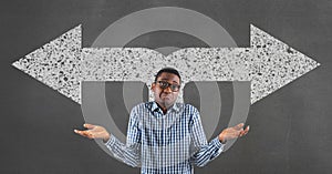
[[[188,81],[251,81],[251,103],[320,64],[250,25],[250,48],[188,48],[167,57],[143,48],[83,48],[81,25],[12,63],[81,103],[80,82],[143,81],[174,66]]]

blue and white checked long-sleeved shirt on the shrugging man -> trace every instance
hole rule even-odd
[[[207,143],[199,112],[189,104],[175,103],[166,114],[155,102],[133,108],[126,144],[111,135],[106,147],[116,158],[143,174],[193,174],[194,164],[204,166],[224,149],[218,137]]]

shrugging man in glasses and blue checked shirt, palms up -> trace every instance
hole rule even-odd
[[[194,173],[194,166],[204,166],[216,158],[226,141],[243,136],[243,123],[225,129],[210,143],[204,133],[199,112],[189,104],[176,103],[180,75],[172,68],[162,69],[151,90],[155,101],[133,108],[128,122],[126,144],[111,135],[103,126],[84,124],[87,130],[75,133],[89,139],[102,139],[120,161],[141,167],[142,173]]]

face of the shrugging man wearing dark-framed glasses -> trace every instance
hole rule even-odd
[[[166,83],[165,83],[166,82]],[[173,91],[172,86],[163,89],[163,84],[174,84],[179,85],[180,81],[176,74],[163,72],[157,81],[152,84],[152,91],[154,92],[155,101],[162,106],[168,109],[172,106],[178,95],[179,91]]]

